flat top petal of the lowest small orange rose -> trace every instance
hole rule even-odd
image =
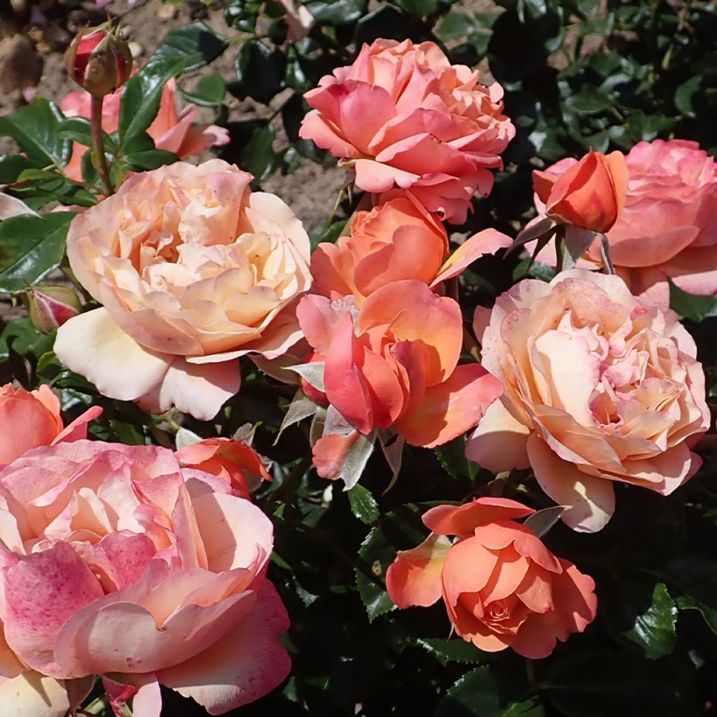
[[[423,514],[422,521],[438,535],[465,536],[486,523],[525,518],[532,513],[533,508],[509,498],[476,498],[465,505],[436,505]]]

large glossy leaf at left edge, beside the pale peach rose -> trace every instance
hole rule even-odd
[[[22,292],[60,265],[74,216],[75,212],[50,212],[0,223],[0,291]]]

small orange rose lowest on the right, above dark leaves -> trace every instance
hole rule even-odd
[[[547,657],[556,640],[593,621],[597,598],[590,576],[516,522],[534,512],[506,498],[431,508],[422,518],[431,535],[399,551],[386,573],[391,599],[404,608],[442,597],[466,642],[486,652],[512,647],[523,657]]]

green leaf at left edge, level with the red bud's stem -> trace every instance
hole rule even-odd
[[[70,140],[60,137],[64,119],[57,105],[35,98],[27,107],[0,117],[0,136],[16,141],[21,151],[39,166],[64,163],[70,156]]]

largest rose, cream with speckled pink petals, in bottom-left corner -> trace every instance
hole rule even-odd
[[[222,714],[287,675],[272,525],[222,478],[81,440],[29,452],[0,487],[4,711],[63,717],[102,675],[138,716],[159,717],[160,684]]]

